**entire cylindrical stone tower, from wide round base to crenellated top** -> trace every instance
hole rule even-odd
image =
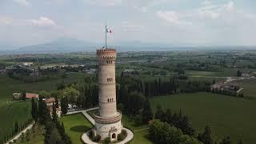
[[[117,110],[115,88],[116,50],[97,50],[98,58],[98,106],[94,114],[94,135],[102,139],[110,137],[111,141],[118,138],[122,131],[122,114]]]

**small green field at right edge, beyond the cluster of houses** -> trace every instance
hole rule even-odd
[[[243,95],[246,97],[256,98],[256,79],[243,79],[230,82],[233,85],[242,86]]]

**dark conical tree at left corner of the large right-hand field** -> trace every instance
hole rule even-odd
[[[149,122],[153,117],[154,117],[154,114],[150,106],[150,101],[148,98],[146,98],[143,111],[142,111],[142,122]]]

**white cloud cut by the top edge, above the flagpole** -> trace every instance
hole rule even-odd
[[[83,1],[94,6],[115,6],[122,3],[122,0],[83,0]]]

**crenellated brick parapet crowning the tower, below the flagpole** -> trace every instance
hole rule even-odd
[[[104,62],[104,61],[115,61],[116,59],[116,50],[115,49],[101,49],[101,50],[97,50],[97,58],[98,61],[100,62]]]

